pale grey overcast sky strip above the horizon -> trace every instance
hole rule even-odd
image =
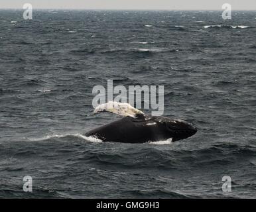
[[[233,10],[255,10],[256,0],[0,0],[0,8],[23,9],[31,3],[34,9],[212,9],[221,10],[224,3]]]

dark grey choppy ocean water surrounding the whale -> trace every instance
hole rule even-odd
[[[0,197],[256,197],[256,12],[228,21],[222,11],[22,15],[0,11]],[[92,115],[92,88],[107,79],[164,85],[164,116],[197,134],[170,144],[87,140],[117,119]]]

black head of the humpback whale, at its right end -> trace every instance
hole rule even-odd
[[[192,124],[180,119],[165,119],[164,123],[173,141],[188,138],[198,131]]]

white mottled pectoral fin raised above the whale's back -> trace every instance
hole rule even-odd
[[[108,103],[99,105],[94,110],[94,114],[101,112],[115,113],[124,117],[141,117],[144,113],[128,103],[120,103],[116,101],[109,101]]]

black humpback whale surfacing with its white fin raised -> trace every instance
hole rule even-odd
[[[94,113],[101,112],[124,116],[86,132],[86,136],[99,138],[103,142],[145,143],[169,138],[176,141],[188,138],[197,132],[196,127],[186,121],[145,115],[128,103],[109,101],[94,110]]]

